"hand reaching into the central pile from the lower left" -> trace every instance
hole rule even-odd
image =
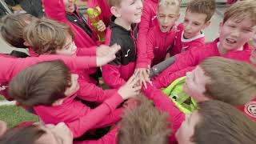
[[[138,85],[138,82],[139,78],[135,77],[134,75],[131,76],[126,84],[119,88],[118,94],[120,94],[124,100],[128,98],[134,98],[140,93],[140,90],[142,89],[142,86]]]

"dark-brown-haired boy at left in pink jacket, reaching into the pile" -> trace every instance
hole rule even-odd
[[[25,83],[23,83],[25,82]],[[10,82],[10,95],[22,106],[30,106],[45,123],[65,122],[78,138],[87,130],[110,126],[118,122],[123,108],[116,107],[127,98],[138,94],[138,78],[132,77],[111,97],[92,98],[102,102],[95,109],[74,98],[82,98],[78,75],[61,61],[42,62],[22,70]],[[35,90],[36,89],[36,90]],[[25,96],[25,97],[24,97]]]

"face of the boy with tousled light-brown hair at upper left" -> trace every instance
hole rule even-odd
[[[73,39],[70,35],[66,37],[66,43],[65,46],[62,47],[62,49],[57,49],[56,54],[62,54],[62,55],[76,55],[77,53],[77,46],[75,46]]]

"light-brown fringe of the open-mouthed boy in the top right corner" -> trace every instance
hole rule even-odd
[[[235,2],[232,6],[227,8],[224,13],[223,23],[228,19],[234,18],[237,22],[242,22],[247,16],[253,22],[253,26],[256,25],[256,1],[255,0],[246,0]]]

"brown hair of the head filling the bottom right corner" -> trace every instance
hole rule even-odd
[[[198,107],[200,118],[194,127],[194,143],[255,143],[256,122],[234,106],[219,101],[206,101],[199,103]]]

